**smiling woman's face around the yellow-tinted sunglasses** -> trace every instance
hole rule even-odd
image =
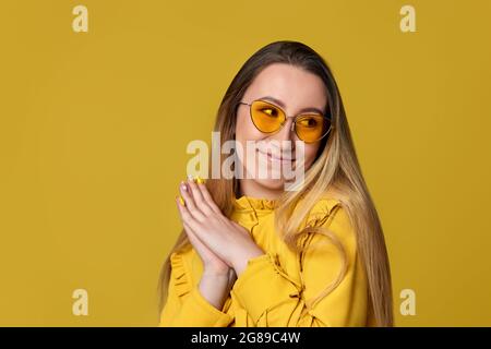
[[[273,97],[274,99],[265,98]],[[251,104],[255,99],[262,99],[280,107],[288,117],[314,109],[323,112],[327,104],[325,85],[313,73],[300,68],[274,63],[266,67],[246,91],[241,101]],[[276,197],[284,191],[288,176],[283,170],[290,167],[292,170],[297,164],[298,152],[303,145],[303,166],[307,171],[315,160],[321,141],[307,143],[301,141],[292,129],[295,118],[287,118],[282,129],[274,133],[263,133],[254,125],[250,116],[250,107],[240,105],[237,109],[236,142],[242,145],[242,154],[238,153],[247,178],[240,179],[241,192],[244,195],[255,197]],[[328,135],[326,135],[328,136]],[[248,153],[248,141],[256,144],[253,153]],[[286,142],[289,141],[289,142]],[[248,161],[248,155],[254,154],[254,161]],[[283,158],[283,159],[282,159]],[[298,157],[299,161],[301,157]],[[251,166],[254,164],[254,166]],[[263,174],[260,176],[260,171]],[[265,171],[267,169],[267,171]],[[279,169],[279,171],[278,171]],[[267,173],[264,178],[264,172]],[[291,177],[291,176],[290,176]]]

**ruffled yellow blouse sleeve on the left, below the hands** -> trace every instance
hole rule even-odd
[[[159,327],[227,327],[233,318],[213,306],[192,286],[180,254],[171,256],[171,272],[166,304],[160,313]]]

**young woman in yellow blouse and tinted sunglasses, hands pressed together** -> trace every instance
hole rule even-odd
[[[181,182],[159,326],[393,326],[382,227],[325,61],[297,41],[263,47],[231,82],[215,131],[221,144],[268,147],[237,152],[235,171],[252,176]],[[278,164],[303,166],[295,190],[283,171],[258,176]]]

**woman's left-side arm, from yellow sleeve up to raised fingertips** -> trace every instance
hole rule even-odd
[[[176,196],[176,204],[188,238],[204,265],[203,274],[200,284],[193,285],[188,279],[189,269],[185,267],[183,256],[180,253],[171,255],[168,299],[160,314],[159,326],[224,327],[232,321],[230,315],[220,310],[235,281],[235,270],[209,250],[193,229],[200,228],[194,218],[204,219],[204,213],[220,212],[216,205],[213,207],[201,205],[203,212],[197,208],[192,195],[202,197],[202,190],[204,185],[197,188],[194,182],[189,185],[181,182],[180,192],[184,198]]]

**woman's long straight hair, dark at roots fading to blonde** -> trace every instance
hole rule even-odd
[[[275,208],[275,228],[282,232],[282,238],[288,246],[302,253],[302,248],[297,244],[299,238],[304,233],[322,233],[344,256],[345,263],[337,279],[314,300],[309,301],[309,304],[312,306],[334,290],[347,269],[343,245],[333,233],[309,226],[299,231],[309,210],[326,192],[330,192],[332,197],[339,200],[356,231],[357,249],[369,284],[369,305],[376,325],[393,326],[391,270],[382,226],[361,173],[336,81],[324,59],[298,41],[275,41],[261,48],[247,60],[233,77],[219,106],[214,131],[219,132],[220,144],[235,139],[238,103],[254,77],[272,63],[291,64],[322,79],[327,93],[326,110],[330,110],[327,115],[331,115],[333,123],[328,136],[321,141],[315,161],[306,171],[304,185],[298,191],[285,191],[277,200]],[[224,160],[225,155],[221,154],[220,166]],[[206,186],[224,215],[230,217],[233,200],[239,193],[239,181],[236,178],[208,179]],[[157,287],[159,312],[167,299],[170,255],[188,245],[189,239],[182,230],[160,269]]]

